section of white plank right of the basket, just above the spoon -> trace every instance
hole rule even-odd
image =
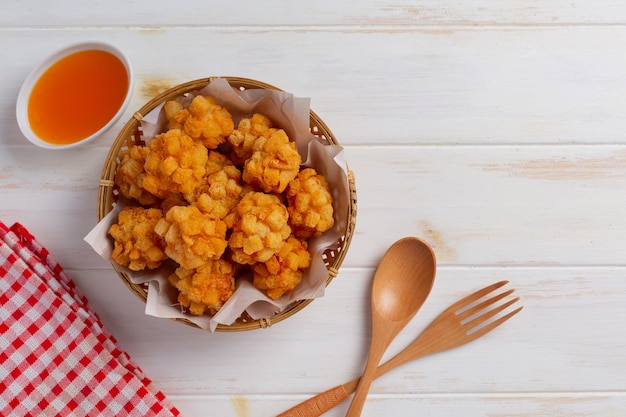
[[[622,146],[346,153],[358,201],[348,262],[413,234],[448,265],[624,265]]]

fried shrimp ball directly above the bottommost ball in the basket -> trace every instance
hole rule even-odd
[[[226,223],[194,206],[175,206],[155,225],[165,253],[186,269],[219,259],[226,249]]]

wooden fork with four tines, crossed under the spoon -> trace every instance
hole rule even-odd
[[[508,281],[497,282],[452,304],[433,320],[409,346],[380,365],[376,371],[376,377],[409,361],[478,339],[519,313],[523,307],[518,307],[495,320],[489,321],[519,300],[519,297],[516,297],[503,304],[495,305],[515,290],[508,290],[479,302],[483,297],[507,283]],[[354,393],[359,384],[359,379],[360,377],[355,378],[350,382],[318,394],[279,414],[278,417],[321,416]]]

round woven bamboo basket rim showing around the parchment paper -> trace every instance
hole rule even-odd
[[[102,169],[102,174],[99,181],[98,187],[98,220],[104,218],[114,207],[118,199],[118,193],[115,188],[114,177],[115,170],[117,164],[120,162],[119,153],[123,149],[127,149],[132,145],[143,145],[145,144],[142,135],[141,135],[141,121],[145,115],[150,113],[153,109],[158,107],[161,103],[166,102],[167,100],[174,99],[183,94],[190,93],[193,91],[201,90],[202,88],[209,85],[211,82],[216,80],[218,77],[209,77],[202,78],[194,81],[190,81],[184,84],[177,85],[158,96],[154,97],[148,103],[146,103],[143,107],[141,107],[135,114],[133,114],[132,118],[124,125],[120,133],[118,134],[115,142],[111,146],[109,154],[107,155],[104,167]],[[228,83],[233,88],[238,88],[240,90],[246,89],[272,89],[279,90],[272,85],[255,81],[247,78],[239,78],[239,77],[220,77],[228,81]],[[310,110],[310,131],[313,135],[317,136],[323,143],[328,145],[338,145],[339,143],[333,136],[332,132],[328,128],[328,126],[322,121],[322,119],[317,116]],[[328,269],[328,279],[326,281],[326,285],[330,284],[330,282],[337,276],[339,272],[339,267],[341,266],[348,247],[350,246],[350,241],[352,240],[352,236],[354,234],[354,228],[356,224],[356,188],[355,188],[355,180],[354,174],[352,171],[348,171],[348,188],[350,190],[350,198],[349,198],[349,207],[347,210],[347,219],[346,220],[346,229],[343,232],[341,238],[333,245],[325,250],[323,255],[323,260]],[[147,286],[146,285],[137,285],[133,283],[128,275],[122,272],[118,272],[118,275],[122,282],[131,290],[133,294],[135,294],[139,299],[141,299],[144,303],[147,300]],[[298,311],[302,310],[309,303],[311,303],[312,299],[306,300],[298,300],[289,304],[286,308],[284,308],[279,313],[276,313],[272,317],[266,317],[259,320],[253,320],[247,314],[243,314],[236,322],[231,325],[223,325],[219,324],[217,326],[216,331],[220,332],[235,332],[235,331],[244,331],[244,330],[254,330],[259,328],[267,328],[274,323],[278,323],[282,320],[285,320]],[[192,327],[198,327],[195,323],[187,320],[187,319],[173,319],[175,321],[182,322]]]

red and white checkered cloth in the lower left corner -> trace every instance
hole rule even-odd
[[[0,415],[180,415],[48,251],[2,222]]]

